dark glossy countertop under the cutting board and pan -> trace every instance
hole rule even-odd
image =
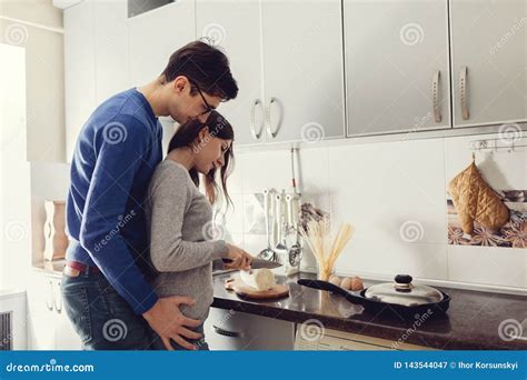
[[[526,340],[504,341],[498,327],[506,319],[520,323],[527,319],[527,297],[474,290],[438,288],[451,296],[446,316],[436,313],[420,327],[392,314],[366,312],[339,294],[297,284],[298,278],[315,278],[312,273],[277,277],[277,282],[289,286],[288,298],[277,301],[242,300],[228,291],[223,282],[230,274],[215,276],[212,307],[301,323],[318,319],[326,328],[369,337],[399,340],[409,328],[405,342],[440,350],[526,350]],[[365,287],[375,283],[365,281]],[[527,337],[527,331],[524,331]]]

